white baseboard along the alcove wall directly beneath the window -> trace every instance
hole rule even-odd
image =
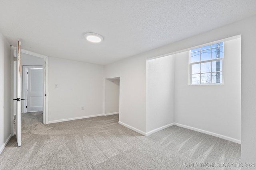
[[[208,135],[212,135],[212,136],[215,136],[215,137],[219,137],[221,139],[226,139],[228,141],[232,141],[234,143],[241,144],[241,141],[238,140],[238,139],[234,139],[232,137],[227,137],[227,136],[224,136],[224,135],[220,135],[218,133],[213,133],[213,132],[205,131],[205,130],[198,129],[198,128],[195,128],[195,127],[190,127],[190,126],[182,125],[180,123],[174,123],[174,125],[179,126],[179,127],[184,127],[186,129],[190,129],[190,130],[193,130],[193,131],[197,131],[197,132],[201,132],[201,133],[206,133]]]

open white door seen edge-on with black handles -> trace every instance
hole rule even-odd
[[[17,138],[17,144],[18,147],[21,146],[21,100],[24,100],[21,98],[21,87],[20,87],[20,74],[21,74],[21,64],[20,64],[20,41],[18,41],[17,49],[16,49],[16,138]]]

